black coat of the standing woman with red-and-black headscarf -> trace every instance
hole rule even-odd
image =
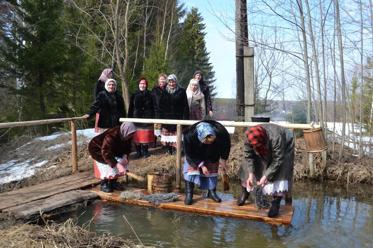
[[[137,90],[132,93],[131,99],[129,100],[128,118],[154,118],[153,96],[148,90],[148,85],[146,85],[146,89],[141,92],[137,84]]]

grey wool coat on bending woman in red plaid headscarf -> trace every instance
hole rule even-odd
[[[268,154],[264,157],[257,155],[251,144],[247,143],[247,134],[244,141],[244,156],[237,175],[246,182],[249,173],[254,173],[253,181],[265,175],[268,181],[288,180],[293,177],[294,169],[294,138],[286,127],[276,124],[260,124],[266,131],[266,144]]]

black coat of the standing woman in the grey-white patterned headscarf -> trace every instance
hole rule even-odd
[[[179,89],[173,94],[164,90],[159,101],[157,119],[189,120],[188,98],[184,88],[179,86]],[[162,124],[162,127],[169,131],[176,130],[176,125]]]

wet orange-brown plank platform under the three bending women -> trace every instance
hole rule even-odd
[[[122,200],[119,198],[119,194],[123,191],[114,191],[112,193],[105,193],[100,191],[100,186],[96,186],[94,188],[88,188],[88,191],[97,193],[100,198],[112,201],[122,201],[125,203],[131,204],[140,204],[145,206],[154,206],[151,203],[148,203],[145,200]],[[126,187],[125,190],[132,190],[135,192],[141,192],[144,195],[148,195],[147,190],[138,189],[138,188],[129,188]],[[216,203],[211,199],[208,199],[206,196],[203,195],[194,195],[193,196],[193,204],[192,205],[185,205],[184,198],[185,194],[181,194],[178,200],[173,201],[171,203],[161,203],[154,207],[164,209],[164,210],[182,210],[188,212],[195,212],[195,213],[204,213],[204,214],[217,214],[221,216],[230,216],[230,217],[239,217],[245,219],[257,219],[257,220],[265,220],[267,222],[279,222],[279,223],[286,223],[290,224],[291,219],[294,213],[294,206],[285,206],[280,205],[279,215],[275,218],[269,218],[267,216],[268,210],[265,211],[258,211],[256,204],[252,201],[247,201],[244,206],[237,206],[237,200],[235,199],[228,199],[222,198],[221,203]]]

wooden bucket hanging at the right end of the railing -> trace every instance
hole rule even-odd
[[[322,152],[327,149],[327,143],[321,127],[303,130],[303,134],[306,152]]]

